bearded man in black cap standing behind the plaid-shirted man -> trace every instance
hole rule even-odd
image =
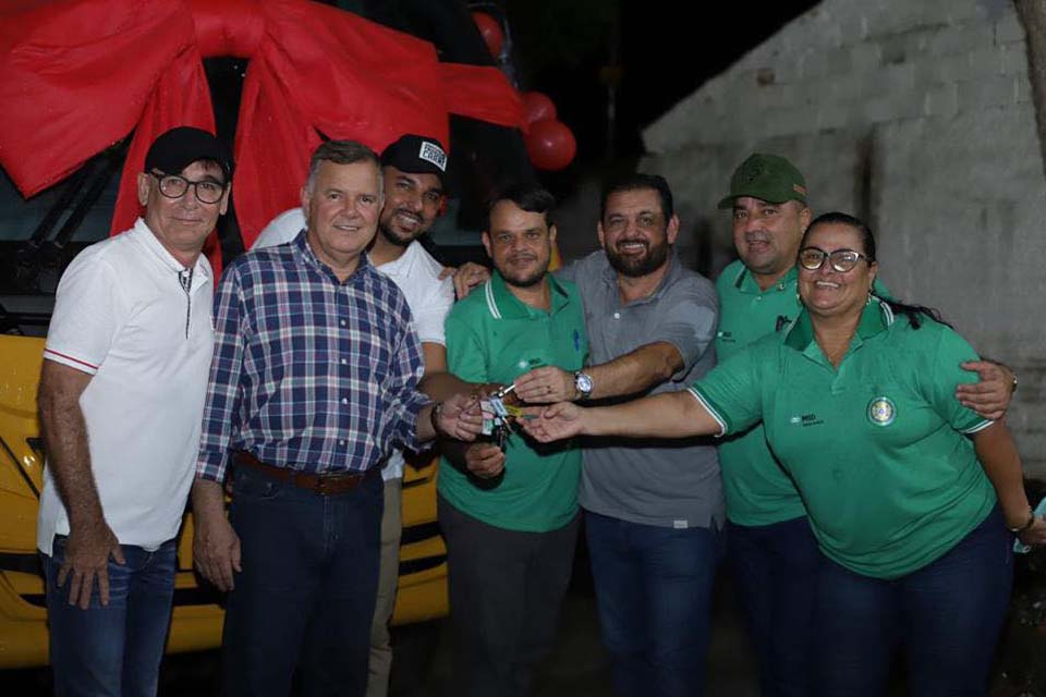
[[[381,154],[385,208],[378,219],[378,234],[367,250],[372,264],[403,291],[414,328],[425,355],[426,384],[431,376],[447,372],[447,348],[443,319],[454,303],[450,278],[440,280],[443,267],[425,250],[418,237],[428,232],[443,204],[443,175],[447,155],[438,140],[418,135],[404,135]],[[301,208],[287,210],[266,225],[252,248],[290,242],[305,228]],[[454,390],[451,376],[440,376],[446,393]],[[439,387],[437,386],[437,389]],[[459,387],[460,390],[460,387]],[[403,491],[403,455],[396,451],[381,470],[385,479],[385,513],[381,517],[381,557],[378,572],[378,597],[370,631],[370,660],[367,697],[388,694],[392,667],[389,620],[396,606],[402,533],[401,498]]]

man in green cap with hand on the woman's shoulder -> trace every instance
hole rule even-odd
[[[802,173],[776,155],[751,155],[730,179],[730,194],[719,208],[733,212],[740,259],[716,282],[720,362],[799,314],[795,259],[812,218],[806,195]],[[1012,374],[989,362],[963,367],[976,370],[981,382],[963,386],[957,398],[986,418],[999,418],[1015,386]],[[808,695],[819,552],[803,502],[767,447],[762,424],[725,439],[719,463],[730,565],[758,656],[763,695]]]

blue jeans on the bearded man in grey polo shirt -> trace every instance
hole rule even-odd
[[[585,512],[603,641],[618,697],[704,694],[723,535]]]

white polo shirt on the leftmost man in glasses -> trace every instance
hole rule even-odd
[[[101,510],[121,545],[148,550],[181,526],[214,352],[204,256],[187,277],[139,218],[65,270],[44,350],[47,360],[93,376],[80,406]],[[37,547],[50,554],[54,535],[68,534],[48,465]]]

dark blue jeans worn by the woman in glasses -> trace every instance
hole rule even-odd
[[[818,694],[885,695],[900,646],[910,694],[986,695],[1009,603],[1012,543],[996,508],[947,554],[895,580],[825,559],[815,628]]]

